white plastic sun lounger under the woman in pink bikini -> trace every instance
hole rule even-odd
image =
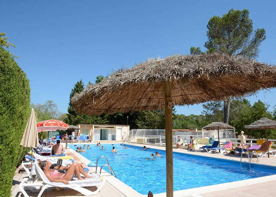
[[[40,179],[42,179],[42,182],[36,181],[36,182],[28,183],[28,178],[24,178],[22,182],[19,184],[19,188],[25,197],[29,197],[29,196],[24,190],[24,187],[37,187],[37,186],[41,188],[38,194],[38,197],[42,195],[45,189],[52,188],[52,187],[71,188],[73,190],[80,192],[85,196],[94,195],[99,193],[104,183],[106,182],[106,179],[104,178],[103,178],[103,181],[101,181],[101,176],[99,174],[90,175],[90,176],[93,176],[93,178],[90,178],[90,179],[68,181],[69,182],[68,185],[64,183],[50,182],[49,179],[47,179],[44,172],[39,167],[37,160],[34,162],[34,167],[35,167],[36,175]],[[92,192],[90,190],[83,188],[83,187],[90,187],[90,186],[96,186],[97,190]]]

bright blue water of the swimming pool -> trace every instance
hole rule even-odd
[[[96,161],[99,156],[106,156],[117,178],[141,194],[147,194],[149,190],[154,194],[166,192],[165,151],[142,150],[131,145],[127,145],[128,148],[125,149],[120,144],[114,144],[118,152],[113,153],[111,152],[113,145],[102,145],[105,150],[91,144],[89,145],[91,149],[80,154],[90,161]],[[77,146],[69,146],[76,150]],[[155,160],[145,159],[150,158],[150,154],[156,151],[164,157]],[[206,153],[208,154],[210,153]],[[99,163],[105,164],[104,158],[101,159]],[[275,167],[252,164],[250,171],[245,163],[240,167],[237,161],[175,152],[173,167],[174,191],[276,174]],[[109,172],[108,167],[104,169]]]

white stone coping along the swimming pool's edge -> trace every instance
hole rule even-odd
[[[85,143],[85,144],[96,144],[96,143]],[[104,143],[104,144],[122,144],[122,143]],[[71,144],[70,144],[71,145]],[[140,147],[143,144],[126,144],[126,145],[131,145],[131,146],[137,146]],[[145,144],[147,145],[147,144]],[[152,145],[154,146],[154,145]],[[164,147],[159,147],[159,146],[154,146],[155,149],[158,150],[164,150],[161,148]],[[85,158],[84,156],[82,156],[81,154],[77,153],[76,151],[72,151],[72,148],[68,148],[67,150],[69,150],[72,154],[74,154],[76,157],[80,158],[86,163],[86,165],[91,162],[89,159]],[[175,151],[176,152],[176,151]],[[180,154],[191,154],[189,152],[187,153],[183,153],[183,152],[177,152]],[[193,155],[193,154],[192,154]],[[201,156],[201,155],[200,155]],[[212,156],[202,156],[202,157],[208,157],[208,158],[214,158]],[[215,158],[215,159],[220,159],[220,160],[224,160],[222,158]],[[230,158],[225,158],[226,160],[230,160],[230,161],[236,161]],[[238,161],[237,161],[238,162]],[[246,162],[246,161],[244,161]],[[247,162],[249,163],[249,162]],[[263,165],[263,166],[272,166],[275,167],[275,165],[269,165],[269,164],[256,164],[255,165]],[[94,173],[95,173],[95,167],[89,167]],[[125,196],[131,196],[131,197],[146,197],[147,195],[145,194],[141,194],[139,192],[137,192],[136,190],[134,190],[133,188],[131,188],[129,185],[127,185],[126,183],[122,182],[121,180],[117,179],[116,177],[114,177],[113,175],[111,175],[110,173],[108,173],[107,171],[102,170],[103,173],[107,174],[107,175],[103,175],[106,178],[106,181],[108,181],[112,186],[114,186],[117,190],[119,190],[122,194],[124,194]],[[198,187],[198,188],[190,188],[190,189],[185,189],[185,190],[178,190],[178,191],[174,191],[174,196],[175,197],[183,197],[183,196],[189,196],[189,195],[195,195],[195,194],[205,194],[205,193],[209,193],[209,192],[214,192],[214,191],[220,191],[220,190],[225,190],[225,189],[230,189],[230,188],[235,188],[235,187],[243,187],[243,186],[247,186],[247,185],[253,185],[253,184],[257,184],[257,183],[263,183],[263,182],[267,182],[267,181],[273,181],[276,180],[276,175],[269,175],[269,176],[264,176],[264,177],[257,177],[257,178],[252,178],[252,179],[245,179],[245,180],[241,180],[241,181],[233,181],[233,182],[228,182],[228,183],[221,183],[221,184],[216,184],[216,185],[208,185],[208,186],[203,186],[203,187]],[[166,196],[166,192],[163,193],[158,193],[158,194],[154,194],[155,197],[165,197]]]

